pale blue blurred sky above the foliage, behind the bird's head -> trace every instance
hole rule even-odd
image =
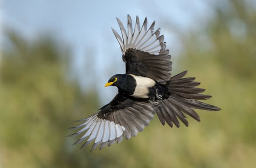
[[[193,2],[193,3],[192,3]],[[119,31],[115,17],[124,25],[127,14],[133,22],[138,15],[141,22],[156,20],[155,29],[161,27],[167,48],[173,57],[182,50],[175,29],[186,34],[200,29],[213,16],[211,1],[204,0],[2,0],[0,24],[16,30],[25,38],[35,39],[45,32],[65,42],[72,49],[74,72],[84,88],[95,85],[102,92],[102,103],[110,101],[117,89],[104,88],[115,73],[125,73],[125,64],[111,27]],[[171,25],[171,26],[170,26]],[[4,38],[0,32],[0,42]],[[89,60],[92,64],[88,64]],[[84,67],[90,66],[91,72]],[[94,73],[92,73],[94,72]],[[103,74],[103,75],[102,75]],[[87,77],[89,76],[89,77]]]

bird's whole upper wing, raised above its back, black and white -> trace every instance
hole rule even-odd
[[[140,28],[140,21],[136,17],[134,31],[131,16],[128,15],[128,33],[122,22],[117,18],[121,35],[112,28],[121,47],[123,61],[126,63],[126,73],[154,79],[165,84],[171,77],[171,55],[166,50],[164,35],[160,35],[160,28],[154,32],[155,22],[147,30],[148,20],[144,19]]]

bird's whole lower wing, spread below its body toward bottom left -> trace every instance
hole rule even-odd
[[[120,143],[124,135],[126,139],[130,139],[131,136],[136,136],[138,131],[144,130],[144,127],[153,119],[152,106],[149,100],[118,93],[109,104],[100,108],[98,113],[79,120],[84,123],[72,128],[82,129],[70,136],[83,133],[83,136],[74,144],[81,143],[89,137],[82,147],[95,140],[92,149],[98,145],[100,149],[107,144],[111,146],[115,141]]]

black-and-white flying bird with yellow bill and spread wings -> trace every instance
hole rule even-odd
[[[154,114],[162,125],[180,127],[180,121],[188,126],[185,114],[200,121],[194,109],[220,110],[198,101],[211,96],[201,94],[205,89],[196,87],[200,82],[195,82],[195,77],[184,77],[187,71],[171,76],[171,55],[166,49],[164,35],[160,35],[160,28],[154,31],[155,21],[147,29],[147,17],[140,26],[137,16],[133,29],[128,15],[127,30],[118,18],[117,22],[121,36],[115,29],[112,31],[121,47],[126,73],[112,76],[105,84],[105,87],[118,88],[115,98],[95,114],[79,120],[82,124],[72,127],[80,130],[70,136],[82,134],[74,144],[84,142],[84,147],[94,141],[92,149],[97,146],[102,149],[120,143],[124,136],[126,139],[136,136]]]

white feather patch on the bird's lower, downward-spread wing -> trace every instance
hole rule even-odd
[[[108,146],[112,145],[116,140],[118,140],[118,143],[120,143],[122,137],[124,136],[125,127],[119,124],[115,124],[113,121],[98,118],[97,114],[93,114],[92,116],[84,120],[84,123],[76,127],[72,127],[82,127],[82,129],[77,131],[76,133],[73,133],[70,136],[78,135],[85,132],[84,135],[74,143],[74,145],[82,142],[84,139],[89,137],[82,145],[82,147],[88,145],[93,140],[95,140],[92,149],[95,149],[98,145],[100,145],[100,149],[102,149],[107,144]]]

